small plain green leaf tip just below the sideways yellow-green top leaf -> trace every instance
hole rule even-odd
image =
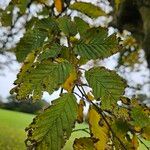
[[[86,23],[85,21],[83,21],[79,17],[75,17],[74,22],[76,24],[76,27],[77,27],[78,32],[80,33],[80,35],[83,35],[90,28],[88,23]]]

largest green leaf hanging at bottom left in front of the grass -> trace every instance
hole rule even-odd
[[[37,150],[60,150],[71,135],[76,116],[75,96],[63,94],[29,125],[28,146]]]

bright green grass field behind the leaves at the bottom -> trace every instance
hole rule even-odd
[[[0,109],[0,150],[25,150],[25,127],[32,121],[33,115]],[[86,128],[86,124],[77,125],[76,129]],[[84,131],[73,132],[63,150],[72,150],[75,138],[88,136]],[[148,146],[150,143],[146,142]],[[147,150],[142,144],[139,150]]]

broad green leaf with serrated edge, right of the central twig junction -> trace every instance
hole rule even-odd
[[[85,72],[85,77],[93,89],[95,99],[101,99],[102,108],[112,109],[117,105],[126,83],[115,71],[97,67]]]

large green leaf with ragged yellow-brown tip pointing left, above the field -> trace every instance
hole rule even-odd
[[[60,63],[43,61],[25,72],[24,76],[21,76],[22,82],[19,78],[15,81],[17,86],[12,89],[12,93],[17,94],[18,100],[28,99],[31,96],[33,100],[39,100],[44,91],[51,94],[64,83],[70,72],[71,65],[67,61]]]

